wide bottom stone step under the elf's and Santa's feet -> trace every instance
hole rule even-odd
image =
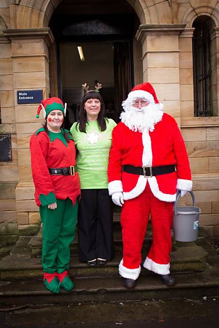
[[[120,277],[74,278],[74,290],[55,295],[47,291],[42,280],[0,281],[2,304],[69,304],[161,300],[218,295],[219,268],[209,267],[196,274],[173,274],[176,284],[168,288],[156,275],[140,276],[135,289],[124,288]]]

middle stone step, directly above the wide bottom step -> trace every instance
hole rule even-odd
[[[41,258],[32,257],[28,245],[28,237],[20,237],[11,254],[0,262],[2,280],[42,278]],[[186,243],[187,245],[188,243]],[[181,245],[182,246],[182,245]],[[144,250],[145,252],[145,250]],[[171,272],[196,272],[206,268],[208,253],[202,246],[190,243],[187,247],[175,247],[171,252]],[[142,254],[143,261],[146,254]],[[77,256],[71,256],[69,274],[71,277],[112,277],[118,275],[118,263],[122,258],[116,254],[114,259],[105,266],[88,267],[86,262],[80,262]],[[142,270],[142,275],[150,275]]]

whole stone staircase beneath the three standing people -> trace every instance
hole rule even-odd
[[[171,272],[175,276],[175,286],[168,288],[155,274],[143,268],[137,287],[131,291],[125,289],[118,276],[118,263],[122,258],[122,233],[120,212],[117,209],[113,224],[115,257],[105,266],[90,268],[86,263],[79,262],[75,237],[71,245],[69,269],[75,288],[70,294],[63,291],[53,295],[44,288],[41,229],[36,236],[19,237],[10,254],[0,262],[0,303],[107,302],[219,294],[219,255],[204,236],[198,237],[195,243],[173,240]],[[149,224],[143,245],[143,260],[151,241]]]

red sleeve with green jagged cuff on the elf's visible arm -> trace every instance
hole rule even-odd
[[[54,194],[53,183],[46,162],[47,153],[49,151],[49,142],[49,137],[45,132],[38,133],[36,137],[35,134],[33,134],[30,138],[32,176],[38,197],[41,195],[49,196],[50,192]],[[55,201],[55,195],[51,198],[50,194],[49,200],[45,200],[45,203],[42,203],[42,205]]]

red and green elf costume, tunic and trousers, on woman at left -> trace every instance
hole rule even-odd
[[[75,166],[74,141],[69,133],[68,136],[67,143],[64,130],[60,133],[49,131],[48,136],[41,128],[30,139],[35,200],[43,222],[42,265],[46,274],[62,274],[69,269],[70,244],[75,235],[77,198],[81,196],[78,174],[49,174],[49,168]],[[57,208],[48,209],[54,202]],[[51,280],[53,278],[52,275]],[[48,277],[47,280],[52,283]]]

